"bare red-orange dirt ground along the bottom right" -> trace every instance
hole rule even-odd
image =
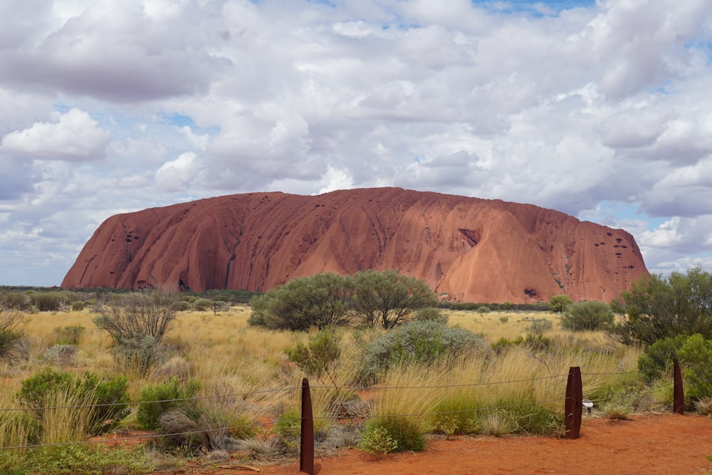
[[[701,415],[649,414],[628,421],[584,419],[576,440],[553,437],[459,437],[431,440],[422,453],[376,458],[345,449],[317,457],[319,475],[356,474],[707,474],[712,464],[712,423]],[[235,462],[237,463],[237,462]],[[244,463],[244,462],[242,462]],[[262,473],[299,474],[299,461],[256,466]],[[254,474],[184,467],[182,473]]]

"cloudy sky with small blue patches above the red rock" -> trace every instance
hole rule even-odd
[[[709,0],[2,0],[0,285],[109,216],[404,187],[712,271]]]

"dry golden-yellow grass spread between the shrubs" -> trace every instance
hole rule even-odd
[[[610,373],[634,371],[640,351],[619,345],[602,332],[570,333],[559,330],[557,315],[553,313],[518,313],[446,311],[449,325],[471,330],[483,336],[487,343],[501,338],[515,340],[528,333],[531,320],[548,318],[553,330],[545,333],[555,351],[533,353],[521,345],[492,353],[486,360],[477,357],[461,360],[451,367],[397,367],[382,380],[388,387],[419,387],[413,390],[377,390],[373,393],[373,414],[415,414],[432,412],[447,398],[468,401],[467,404],[487,406],[502,400],[551,402],[552,410],[561,412],[564,388],[569,367],[580,366],[583,373],[584,397],[602,392],[619,384],[620,376]],[[13,407],[11,395],[19,390],[21,381],[55,362],[44,359],[45,352],[56,343],[55,328],[80,325],[86,328],[73,363],[63,367],[73,372],[93,370],[112,377],[120,372],[110,353],[110,338],[98,330],[92,319],[97,314],[82,312],[36,313],[27,315],[23,332],[31,348],[29,359],[21,365],[0,362],[0,376],[5,378],[0,407]],[[170,377],[199,381],[199,396],[214,398],[201,402],[204,407],[223,412],[226,419],[248,417],[253,421],[276,419],[286,412],[298,410],[298,387],[305,377],[290,363],[286,348],[306,343],[307,333],[276,332],[247,325],[249,308],[233,307],[214,315],[207,312],[182,312],[177,316],[164,343],[169,357],[155,367],[145,379],[130,379],[130,396],[137,398],[143,385],[167,380]],[[379,332],[355,333],[344,330],[342,357],[333,368],[338,387],[346,388],[357,380],[363,345],[376,338]],[[488,384],[511,382],[508,384]],[[318,427],[334,424],[333,414],[339,404],[353,392],[318,388],[331,386],[330,378],[310,377],[313,390],[315,417]],[[437,388],[437,386],[450,386]],[[291,390],[283,390],[292,388]],[[56,414],[61,421],[62,414]],[[130,420],[130,419],[129,419]],[[7,434],[14,434],[11,422],[2,421]],[[53,439],[70,437],[59,432]],[[4,444],[9,444],[4,437]],[[21,434],[18,436],[21,438]],[[48,436],[49,437],[49,436]],[[71,436],[74,437],[74,436]]]

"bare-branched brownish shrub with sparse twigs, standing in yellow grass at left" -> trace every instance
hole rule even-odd
[[[130,293],[93,321],[111,336],[117,362],[147,375],[176,318],[178,302],[177,295],[167,291]]]

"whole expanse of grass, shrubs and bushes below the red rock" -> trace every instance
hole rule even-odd
[[[708,275],[682,277],[699,289]],[[258,315],[225,294],[158,291],[56,292],[60,309],[42,311],[35,293],[5,291],[0,408],[11,410],[0,412],[1,471],[145,473],[191,457],[217,463],[231,454],[247,463],[291,456],[303,377],[312,386],[322,451],[421,450],[429,437],[461,434],[561,436],[572,366],[581,367],[595,417],[670,406],[672,357],[684,363],[689,407],[711,407],[712,335],[698,331],[709,308],[698,301],[696,318],[685,320],[691,328],[671,317],[659,325],[668,333],[656,330],[661,338],[638,338],[649,335],[645,323],[659,313],[642,305],[651,282],[666,287],[656,277],[637,284],[615,303],[615,314],[600,303],[525,312],[414,301],[377,313],[362,300],[356,318],[346,310],[331,324],[300,323],[304,330],[268,328],[277,320],[264,296]],[[340,312],[333,295],[330,311]],[[669,308],[665,295],[649,302]],[[295,315],[320,318],[316,310]],[[137,434],[149,438],[132,439]],[[127,440],[111,449],[77,444],[92,437]]]

